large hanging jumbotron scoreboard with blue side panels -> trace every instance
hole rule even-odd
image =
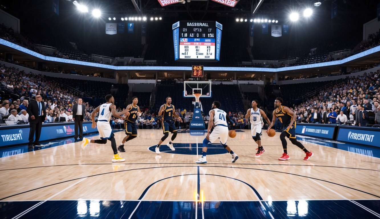
[[[222,24],[178,21],[173,24],[174,60],[219,61]]]

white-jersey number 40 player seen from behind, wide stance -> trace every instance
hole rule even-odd
[[[233,122],[230,117],[228,117],[227,113],[223,111],[222,109],[219,109],[220,103],[218,101],[214,101],[211,105],[211,110],[209,112],[210,120],[209,125],[207,127],[207,135],[206,138],[203,140],[203,149],[202,149],[202,157],[197,160],[195,163],[207,163],[206,160],[206,152],[207,152],[207,144],[212,143],[218,138],[220,138],[220,143],[222,143],[223,147],[230,152],[232,156],[232,162],[236,162],[237,154],[235,154],[229,146],[227,146],[227,138],[228,138],[228,124],[227,121],[231,124],[235,125],[235,122]],[[210,134],[212,124],[215,123],[215,128]]]

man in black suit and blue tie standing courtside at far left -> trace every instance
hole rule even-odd
[[[42,122],[46,120],[45,103],[41,101],[42,96],[36,95],[36,100],[29,103],[26,111],[29,114],[29,143],[28,148],[32,148],[33,145],[39,145],[38,141],[40,140]],[[33,141],[34,134],[36,134],[36,139]]]

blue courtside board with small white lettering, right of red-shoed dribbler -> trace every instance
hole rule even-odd
[[[296,134],[313,137],[327,138],[332,140],[336,125],[297,123]]]

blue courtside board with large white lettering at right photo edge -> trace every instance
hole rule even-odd
[[[380,129],[340,125],[337,141],[380,147]]]

